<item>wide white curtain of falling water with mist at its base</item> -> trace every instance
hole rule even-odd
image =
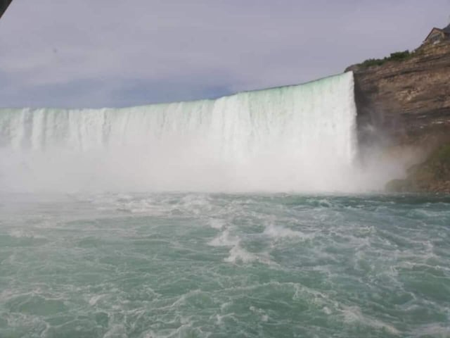
[[[0,109],[4,191],[348,191],[352,73],[216,100]]]

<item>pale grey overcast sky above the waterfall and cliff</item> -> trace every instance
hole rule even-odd
[[[419,46],[450,0],[13,0],[0,106],[103,107],[307,82]]]

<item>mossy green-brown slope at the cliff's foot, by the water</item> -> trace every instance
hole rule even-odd
[[[413,165],[404,180],[387,182],[388,192],[450,193],[450,144],[439,146],[423,163]]]

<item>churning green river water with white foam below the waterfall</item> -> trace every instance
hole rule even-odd
[[[450,337],[450,199],[3,195],[0,337]]]

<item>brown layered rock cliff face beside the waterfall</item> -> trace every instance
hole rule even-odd
[[[401,61],[347,70],[354,72],[360,144],[383,144],[395,157],[413,149],[413,165],[450,142],[450,40],[421,46]]]

